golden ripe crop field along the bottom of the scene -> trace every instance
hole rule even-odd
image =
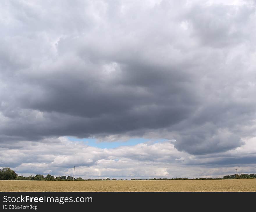
[[[256,191],[256,179],[147,181],[0,180],[0,191]]]

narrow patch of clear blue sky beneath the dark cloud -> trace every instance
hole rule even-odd
[[[97,139],[79,139],[75,137],[67,137],[70,141],[82,141],[85,144],[97,148],[107,148],[107,149],[112,149],[112,148],[117,148],[120,146],[134,146],[138,143],[146,143],[146,142],[152,142],[152,143],[158,143],[158,142],[163,142],[166,141],[166,139],[159,139],[159,140],[150,140],[150,139],[144,139],[144,138],[133,138],[129,139],[127,141],[97,141]]]

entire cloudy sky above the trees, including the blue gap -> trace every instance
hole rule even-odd
[[[256,1],[0,5],[0,167],[256,173]]]

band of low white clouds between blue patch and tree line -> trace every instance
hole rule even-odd
[[[237,157],[244,159],[247,156],[254,160],[255,139],[249,139],[241,148],[226,153],[193,156],[179,152],[174,148],[174,144],[168,141],[101,149],[60,137],[51,145],[38,143],[32,147],[29,145],[31,142],[22,142],[19,150],[0,148],[0,161],[1,164],[10,165],[17,173],[24,176],[31,173],[71,176],[72,167],[75,165],[76,177],[84,179],[222,177],[234,173],[235,168],[239,168],[243,173],[255,173],[256,163],[245,166],[243,161],[239,163],[237,160],[237,164],[232,162]],[[250,149],[249,155],[248,149]],[[9,157],[7,160],[6,157],[10,154],[15,157]]]

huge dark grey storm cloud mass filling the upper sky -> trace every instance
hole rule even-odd
[[[255,135],[255,5],[10,1],[1,10],[2,143],[154,133],[200,155]]]

